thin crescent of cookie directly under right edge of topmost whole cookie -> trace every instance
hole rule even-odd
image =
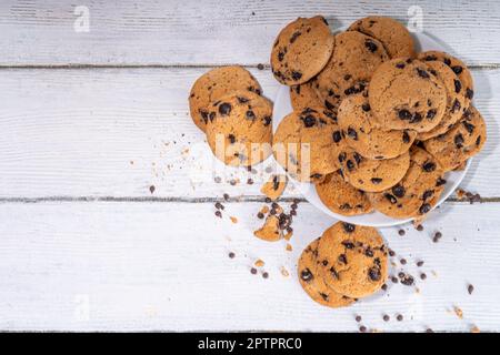
[[[441,122],[429,132],[419,133],[417,139],[419,141],[426,141],[439,134],[446,133],[451,126],[457,123],[462,113],[467,109],[466,106],[466,91],[462,89],[460,79],[453,73],[453,71],[440,61],[427,62],[429,72],[437,77],[444,84],[447,89],[447,110],[441,119]]]

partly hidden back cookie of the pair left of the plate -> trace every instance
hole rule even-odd
[[[198,78],[189,94],[189,111],[194,124],[204,132],[210,104],[237,90],[262,93],[256,78],[238,65],[216,68]]]

